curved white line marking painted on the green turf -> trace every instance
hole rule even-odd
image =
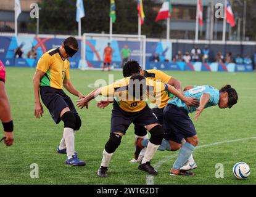
[[[204,148],[204,147],[212,147],[215,145],[220,145],[221,143],[232,143],[232,142],[239,142],[239,141],[243,141],[243,140],[251,140],[251,139],[256,139],[256,137],[249,137],[249,138],[242,138],[242,139],[236,139],[236,140],[227,140],[227,141],[221,141],[221,142],[215,142],[215,143],[209,143],[209,144],[205,144],[205,145],[201,145],[199,147],[196,147],[196,149],[198,148]],[[168,156],[164,159],[162,159],[161,161],[159,161],[159,163],[155,164],[155,169],[159,169],[159,167],[162,166],[162,164],[164,164],[167,161],[170,161],[171,159],[175,158],[176,156],[178,156],[178,153],[174,153],[171,156]],[[147,185],[154,185],[154,176],[152,175],[146,175],[146,184]]]

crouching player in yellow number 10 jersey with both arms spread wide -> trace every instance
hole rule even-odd
[[[139,169],[149,174],[157,174],[154,167],[151,166],[150,161],[154,157],[159,143],[163,139],[163,127],[159,124],[156,116],[146,103],[146,98],[159,102],[163,91],[168,90],[176,95],[187,105],[196,105],[196,100],[184,97],[181,92],[174,87],[163,84],[162,82],[153,81],[144,78],[141,75],[134,75],[131,78],[124,78],[120,81],[114,82],[109,86],[101,87],[93,90],[87,97],[78,100],[76,104],[83,108],[88,105],[88,102],[97,95],[104,97],[115,97],[112,118],[111,131],[109,141],[105,144],[103,151],[103,158],[101,166],[97,172],[99,177],[107,177],[107,169],[109,167],[110,159],[114,151],[121,143],[123,135],[131,123],[143,126],[151,133],[151,138],[147,146],[144,158],[139,164]]]

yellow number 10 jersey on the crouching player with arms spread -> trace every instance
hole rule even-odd
[[[128,112],[138,112],[146,107],[146,100],[136,100],[128,94],[129,78],[114,82],[109,86],[101,88],[101,95],[104,97],[115,97],[119,107]],[[162,82],[153,81],[146,78],[147,98],[149,100],[160,100],[162,92],[165,92],[167,86]],[[129,97],[130,96],[130,97]]]

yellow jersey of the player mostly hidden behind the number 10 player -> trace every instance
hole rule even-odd
[[[160,82],[163,82],[165,84],[168,84],[168,81],[170,81],[171,79],[171,76],[169,76],[168,74],[165,74],[163,73],[162,71],[160,70],[145,70],[145,77],[148,78],[148,79],[152,79],[154,81],[160,81]],[[168,104],[168,100],[170,100],[170,97],[169,97],[169,92],[162,92],[162,95],[161,95],[161,100],[152,100],[151,102],[154,103],[155,105],[157,105],[158,108],[163,108],[165,106],[167,106]]]

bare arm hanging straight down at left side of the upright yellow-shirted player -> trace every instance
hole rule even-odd
[[[44,76],[44,72],[41,70],[36,70],[33,78],[34,85],[34,96],[35,96],[35,111],[34,115],[36,118],[40,118],[43,116],[44,108],[40,102],[39,88],[40,88],[40,79]]]

